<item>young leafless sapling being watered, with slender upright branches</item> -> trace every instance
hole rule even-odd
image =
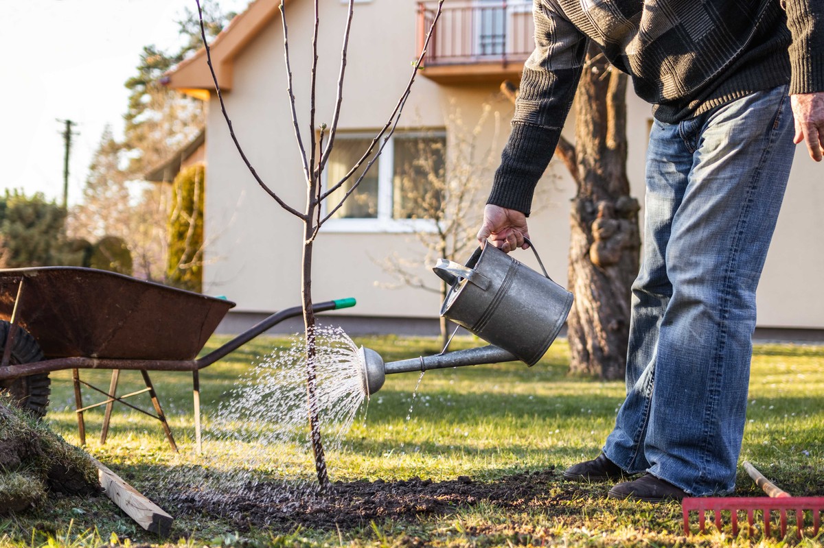
[[[344,26],[343,45],[340,53],[340,66],[336,86],[335,108],[332,114],[331,124],[327,126],[325,123],[317,124],[315,119],[316,114],[316,82],[317,82],[317,59],[318,59],[318,33],[320,30],[321,14],[319,7],[319,0],[314,0],[314,24],[311,32],[312,56],[311,56],[311,81],[309,91],[309,128],[308,138],[302,136],[300,125],[297,119],[297,106],[293,88],[292,77],[292,63],[289,54],[289,37],[288,37],[288,23],[286,17],[285,2],[280,2],[281,22],[283,24],[283,57],[286,63],[287,72],[287,88],[289,104],[292,113],[293,130],[297,140],[297,146],[300,151],[300,160],[303,168],[303,178],[306,185],[306,202],[302,209],[297,209],[284,202],[278,193],[276,193],[268,184],[265,183],[260,175],[257,174],[255,168],[250,164],[246,153],[243,151],[240,142],[238,142],[234,129],[232,128],[232,120],[229,118],[226,110],[226,104],[223,101],[223,96],[218,86],[218,77],[214,72],[212,65],[212,54],[209,49],[208,40],[206,39],[206,31],[203,24],[203,12],[200,7],[200,0],[195,0],[198,4],[198,13],[201,21],[201,39],[203,39],[204,47],[206,49],[206,58],[208,62],[209,71],[212,74],[212,80],[215,86],[216,95],[220,103],[223,117],[226,119],[229,133],[232,137],[241,159],[249,169],[250,174],[255,178],[255,181],[260,185],[267,194],[269,194],[275,202],[294,216],[303,224],[303,253],[302,253],[302,308],[303,308],[303,323],[306,337],[306,374],[307,374],[307,407],[309,415],[309,425],[311,430],[311,446],[315,456],[315,470],[317,473],[317,481],[322,490],[329,487],[329,476],[326,471],[326,462],[323,453],[323,444],[321,441],[321,427],[318,418],[318,402],[316,395],[316,373],[315,373],[315,358],[316,358],[316,340],[315,340],[315,325],[316,318],[312,309],[311,296],[311,267],[312,267],[312,252],[314,249],[315,239],[321,225],[328,221],[335,212],[344,205],[349,196],[358,188],[358,184],[363,180],[368,170],[380,156],[386,142],[389,141],[392,133],[400,120],[400,114],[403,112],[406,100],[410,95],[412,84],[418,71],[423,65],[426,49],[428,48],[429,39],[432,36],[432,30],[440,17],[443,0],[439,0],[438,9],[433,17],[432,25],[429,27],[426,39],[424,40],[424,47],[422,48],[418,59],[413,63],[412,74],[406,85],[405,90],[401,93],[395,109],[392,110],[389,118],[377,135],[372,138],[368,148],[364,151],[363,156],[352,166],[347,174],[339,179],[337,182],[330,181],[327,188],[324,189],[321,176],[325,170],[326,163],[329,160],[330,153],[335,145],[335,135],[338,129],[338,120],[340,115],[340,107],[343,102],[344,91],[344,75],[346,72],[347,52],[349,49],[349,34],[352,26],[352,17],[354,12],[354,0],[349,0],[347,10],[347,17]],[[308,142],[307,142],[308,141]],[[363,169],[362,169],[363,168]],[[344,188],[345,193],[342,197],[335,193],[336,190]],[[325,206],[325,207],[324,207]]]

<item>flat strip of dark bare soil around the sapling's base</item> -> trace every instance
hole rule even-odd
[[[402,481],[335,482],[327,495],[273,497],[282,485],[255,485],[242,497],[204,501],[192,497],[179,501],[185,513],[222,515],[240,530],[268,527],[290,531],[295,527],[348,530],[370,522],[414,521],[419,516],[453,513],[461,505],[480,502],[500,508],[523,509],[568,500],[575,492],[549,495],[547,485],[557,481],[553,468],[505,476],[494,481],[473,481],[459,476],[451,481],[413,477]],[[181,507],[182,506],[182,507]]]

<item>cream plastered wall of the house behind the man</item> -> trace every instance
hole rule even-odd
[[[330,123],[335,102],[340,35],[346,11],[339,0],[321,2],[324,19],[319,37],[316,125]],[[287,16],[297,111],[302,137],[309,127],[307,97],[310,59],[311,2],[289,2]],[[393,21],[391,26],[386,21]],[[410,76],[415,51],[414,2],[358,3],[344,88],[341,130],[381,128]],[[236,58],[232,91],[225,95],[236,136],[269,186],[286,202],[302,210],[305,185],[285,92],[283,37],[279,20],[272,21]],[[439,86],[419,75],[399,128],[443,128],[455,108],[472,127],[488,102],[499,113],[500,134],[494,142],[494,118],[482,134],[480,150],[497,158],[508,135],[513,108],[499,96],[497,86]],[[650,109],[630,96],[629,171],[632,193],[643,204],[643,170]],[[573,121],[565,128],[573,135]],[[256,313],[300,302],[302,224],[283,211],[246,170],[229,137],[219,104],[213,97],[208,114],[206,197],[207,265],[204,292],[227,295],[236,311]],[[758,295],[759,325],[824,327],[824,296],[817,281],[824,258],[816,249],[824,220],[821,166],[799,150],[775,244]],[[497,165],[497,160],[493,163]],[[489,174],[491,183],[491,173]],[[569,200],[574,184],[559,161],[553,161],[539,185],[530,231],[555,281],[566,283],[569,246]],[[482,205],[467,215],[480,215]],[[394,280],[376,264],[397,253],[405,258],[422,254],[409,234],[341,233],[325,230],[316,240],[312,293],[316,301],[355,297],[358,316],[435,318],[438,295],[411,288],[386,289],[376,284]],[[531,252],[516,258],[536,267]],[[434,279],[424,267],[425,279]],[[799,306],[801,304],[801,306]]]

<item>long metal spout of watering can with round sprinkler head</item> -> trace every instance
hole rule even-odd
[[[420,356],[419,358],[412,358],[411,360],[391,361],[388,364],[384,363],[381,355],[371,348],[361,346],[358,354],[362,368],[363,392],[368,396],[371,396],[381,389],[387,374],[428,371],[428,369],[444,369],[447,367],[463,367],[465,365],[498,364],[517,360],[517,357],[515,357],[512,352],[494,345],[447,352],[445,354]]]

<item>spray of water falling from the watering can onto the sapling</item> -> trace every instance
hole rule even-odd
[[[283,501],[317,490],[307,417],[306,342],[301,335],[291,343],[266,356],[219,402],[208,405],[216,411],[204,420],[204,453],[194,458],[181,453],[166,485],[158,488],[168,503],[194,499],[231,507],[238,499]],[[366,397],[358,347],[339,328],[318,328],[314,365],[321,435],[329,456],[341,449]],[[331,477],[334,461],[328,461]]]

